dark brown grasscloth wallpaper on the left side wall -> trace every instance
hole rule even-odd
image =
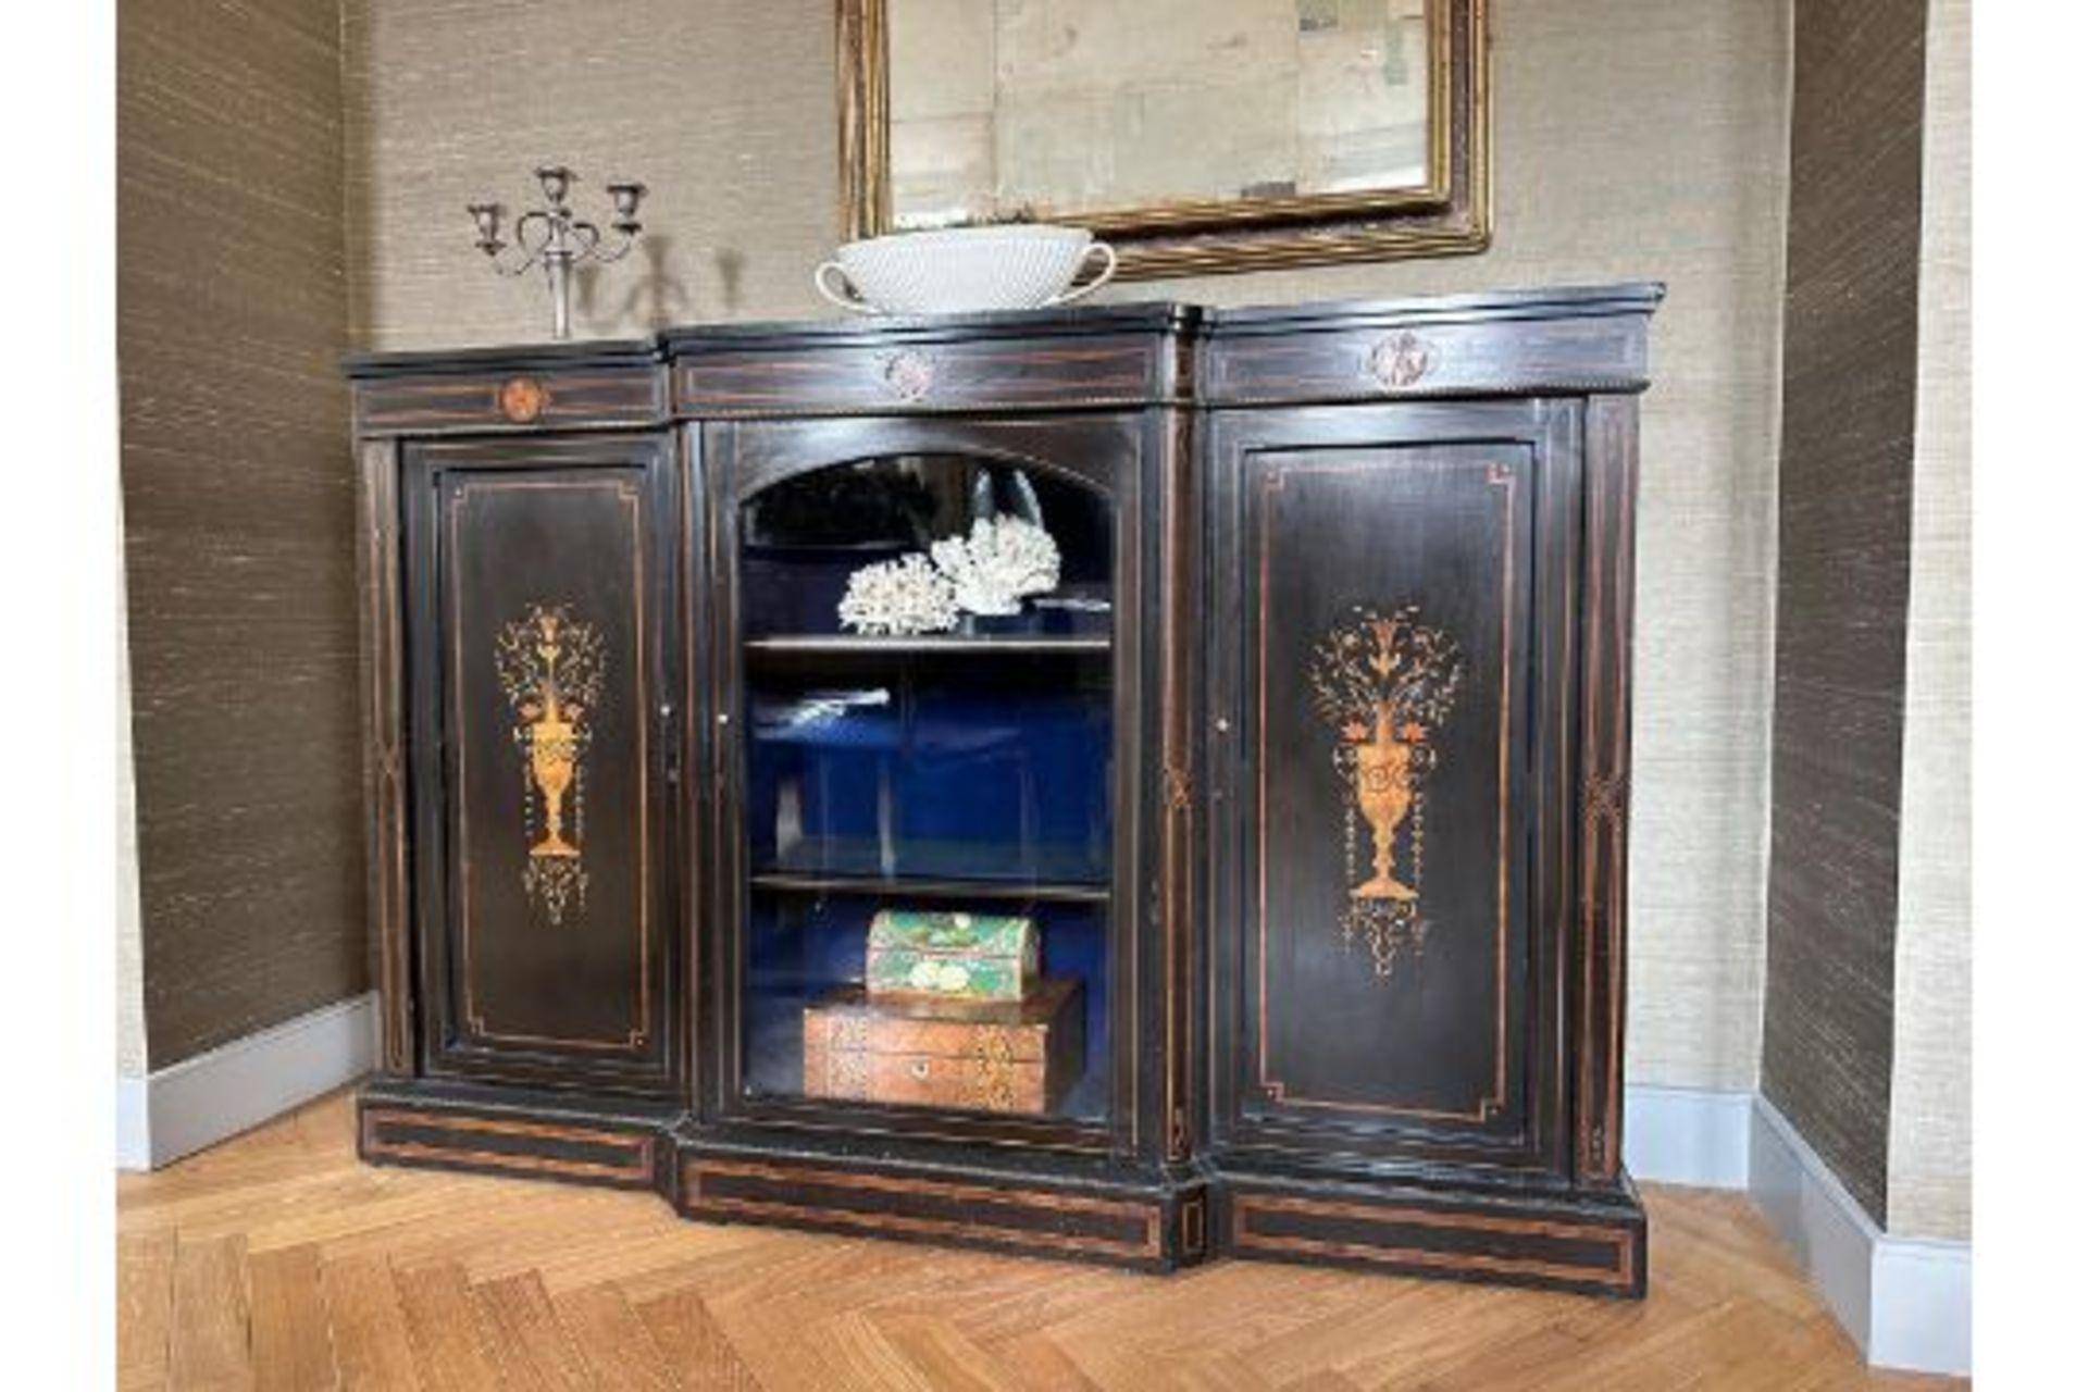
[[[365,989],[340,207],[334,0],[119,6],[117,355],[155,1069]]]

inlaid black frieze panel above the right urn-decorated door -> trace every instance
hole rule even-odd
[[[1493,296],[1495,301],[1499,296]],[[1503,334],[1499,315],[1457,319],[1457,301],[1397,305],[1297,326],[1290,311],[1221,317],[1203,363],[1211,405],[1455,394],[1633,392],[1645,386],[1645,305],[1589,298],[1581,313]],[[1376,309],[1376,311],[1374,311]]]

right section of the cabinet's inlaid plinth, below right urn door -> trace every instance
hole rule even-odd
[[[1629,1181],[1553,1198],[1228,1175],[1211,1194],[1215,1256],[1645,1296],[1645,1208]]]

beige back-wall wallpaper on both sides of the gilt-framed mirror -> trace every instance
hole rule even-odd
[[[357,338],[539,338],[464,205],[564,159],[656,194],[651,261],[589,336],[825,313],[837,236],[831,0],[347,2]],[[1752,1087],[1760,1037],[1785,6],[1495,0],[1497,242],[1485,257],[1146,282],[1115,298],[1267,303],[1668,282],[1645,399],[1631,1073]]]

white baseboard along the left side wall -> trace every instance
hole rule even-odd
[[[376,1046],[372,991],[148,1077],[119,1077],[117,1169],[159,1169],[353,1083],[376,1064]]]

